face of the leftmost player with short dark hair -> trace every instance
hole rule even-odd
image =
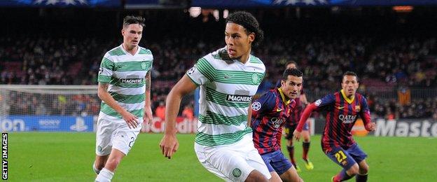
[[[128,49],[135,48],[143,36],[143,26],[139,24],[127,25],[121,30],[121,34],[123,35],[123,43],[127,45]]]

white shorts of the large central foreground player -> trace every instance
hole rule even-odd
[[[251,134],[229,146],[211,147],[195,143],[194,150],[203,167],[226,181],[245,181],[255,169],[267,179],[272,177],[254,147]]]

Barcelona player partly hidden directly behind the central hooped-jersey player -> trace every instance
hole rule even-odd
[[[303,73],[286,69],[281,86],[263,94],[252,105],[251,127],[254,145],[267,165],[270,181],[302,181],[291,162],[281,152],[282,126],[296,107]]]

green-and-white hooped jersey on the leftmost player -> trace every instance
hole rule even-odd
[[[146,73],[152,69],[151,50],[139,47],[134,55],[120,45],[106,52],[100,64],[99,83],[109,83],[108,92],[124,109],[144,116]],[[100,117],[123,121],[122,116],[102,101]],[[142,120],[141,120],[142,121]]]

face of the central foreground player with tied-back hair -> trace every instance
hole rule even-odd
[[[240,59],[243,55],[248,55],[254,39],[255,34],[246,34],[246,29],[241,25],[232,22],[226,24],[225,42],[230,58]]]

